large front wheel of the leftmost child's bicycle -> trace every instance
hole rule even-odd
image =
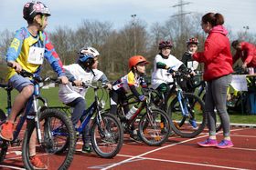
[[[29,155],[35,154],[48,169],[68,169],[75,151],[75,133],[71,120],[59,110],[46,109],[40,113],[39,124],[41,129],[37,134],[35,121],[27,120],[27,132],[22,145],[22,157],[26,169],[34,169]],[[59,129],[60,126],[65,130],[66,135],[55,135],[57,133],[55,129]],[[38,141],[38,135],[41,135],[41,142]],[[57,151],[66,144],[66,141],[69,141],[67,152],[57,155]]]

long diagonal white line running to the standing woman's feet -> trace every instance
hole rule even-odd
[[[234,129],[234,130],[230,130],[230,131],[231,131],[231,132],[234,132],[234,131],[240,131],[240,130],[243,130],[243,129]],[[220,133],[220,132],[219,132],[219,133]],[[148,152],[146,152],[146,153],[144,153],[144,154],[135,155],[135,156],[133,156],[133,157],[131,157],[131,158],[128,158],[128,159],[125,159],[125,160],[123,160],[123,161],[121,161],[121,162],[118,162],[118,163],[109,165],[109,166],[107,166],[107,167],[105,167],[105,168],[102,168],[102,170],[107,170],[107,169],[110,169],[110,168],[112,168],[112,167],[114,167],[114,166],[125,164],[125,163],[127,163],[127,162],[129,162],[129,161],[131,161],[131,160],[133,160],[133,159],[137,159],[137,158],[139,158],[139,157],[142,157],[142,156],[144,156],[144,155],[148,155],[148,154],[154,153],[154,152],[156,152],[156,151],[165,149],[165,148],[167,148],[167,147],[171,147],[171,146],[174,146],[174,145],[179,145],[179,144],[187,143],[187,142],[189,142],[189,141],[192,141],[192,140],[195,140],[195,139],[199,139],[199,138],[203,138],[203,137],[206,137],[206,136],[208,136],[208,135],[201,135],[201,136],[198,136],[198,137],[195,137],[195,138],[191,138],[191,139],[187,139],[187,140],[185,140],[185,141],[181,141],[181,142],[176,143],[176,144],[161,146],[161,147],[158,147],[158,148],[156,148],[156,149],[154,149],[154,150],[148,151]]]

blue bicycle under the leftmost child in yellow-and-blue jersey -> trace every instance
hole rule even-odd
[[[75,133],[69,117],[59,112],[59,110],[48,109],[46,99],[42,98],[40,95],[39,83],[43,82],[41,77],[31,74],[25,70],[22,70],[19,74],[31,78],[31,82],[34,85],[34,94],[28,99],[27,105],[24,107],[24,112],[21,111],[18,114],[20,117],[14,131],[13,141],[8,142],[0,138],[0,162],[4,161],[10,144],[12,145],[16,143],[16,141],[18,141],[17,145],[21,144],[21,141],[17,139],[17,136],[22,130],[25,120],[27,120],[27,129],[22,144],[22,158],[25,168],[34,169],[29,159],[29,150],[34,150],[36,148],[36,155],[45,165],[48,166],[48,169],[68,169],[75,151]],[[4,87],[7,92],[7,114],[9,114],[11,109],[10,99],[12,88],[9,85],[1,86]],[[43,106],[39,106],[38,102],[42,102]],[[3,125],[6,121],[6,116],[3,110],[1,110],[0,113],[1,117],[4,117],[0,123],[0,125]],[[63,141],[48,133],[50,128],[53,128],[54,125],[58,125],[59,123],[61,123],[63,128],[69,132],[69,137],[63,139],[69,140],[69,150],[62,156],[57,155],[56,151],[59,149],[59,144]]]

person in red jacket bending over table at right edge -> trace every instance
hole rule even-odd
[[[233,56],[233,64],[241,58],[243,69],[253,67],[256,71],[256,46],[251,43],[235,40],[232,42],[232,47],[236,50],[236,54]]]

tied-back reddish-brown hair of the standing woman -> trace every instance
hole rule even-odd
[[[224,17],[223,15],[220,15],[219,13],[208,13],[206,15],[203,15],[202,22],[204,24],[209,23],[212,26],[216,25],[223,25],[224,24]]]

